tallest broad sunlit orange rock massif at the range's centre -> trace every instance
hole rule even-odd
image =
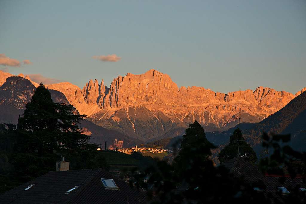
[[[166,103],[173,100],[178,87],[170,76],[151,69],[144,74],[118,76],[110,84],[109,97],[104,107],[121,107],[133,104]]]

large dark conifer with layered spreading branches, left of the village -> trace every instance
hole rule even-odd
[[[14,156],[17,170],[39,176],[54,170],[55,161],[61,156],[76,157],[83,151],[96,150],[97,145],[87,144],[90,137],[81,134],[78,125],[86,115],[74,115],[73,111],[71,105],[54,103],[47,88],[39,84],[18,121],[18,154]]]

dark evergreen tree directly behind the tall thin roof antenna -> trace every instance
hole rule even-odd
[[[230,136],[230,143],[226,147],[224,147],[224,149],[222,149],[218,155],[220,164],[238,156],[238,140],[240,155],[243,156],[245,154],[245,156],[243,157],[245,160],[251,163],[256,163],[256,153],[252,149],[251,145],[245,142],[241,130],[237,128],[234,131],[233,135]]]

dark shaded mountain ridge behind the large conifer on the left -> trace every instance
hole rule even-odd
[[[37,83],[33,84],[30,79],[21,76],[6,78],[0,87],[0,123],[17,124],[18,116],[23,114],[25,105],[32,99],[36,89],[34,85],[38,86]],[[69,104],[62,92],[52,89],[49,91],[54,102]],[[74,114],[79,113],[75,110]],[[80,127],[83,128],[83,134],[90,135],[90,143],[100,144],[103,148],[105,142],[109,147],[117,140],[122,142],[122,147],[132,147],[141,143],[121,132],[100,127],[87,120],[81,121]]]

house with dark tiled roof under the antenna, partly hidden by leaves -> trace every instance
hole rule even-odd
[[[259,171],[257,166],[246,161],[241,156],[223,163],[222,166],[229,169],[234,176],[244,177],[244,180],[251,184],[258,182],[265,184],[265,190],[260,188],[254,188],[254,190],[264,192],[266,195],[271,194],[274,197],[277,197],[280,192],[283,195],[289,194],[289,189],[293,189],[297,185],[299,185],[300,191],[306,190],[305,176],[297,175],[294,179],[292,179],[288,174],[285,174],[284,183],[280,183],[279,180],[282,178],[282,176],[262,173]]]

